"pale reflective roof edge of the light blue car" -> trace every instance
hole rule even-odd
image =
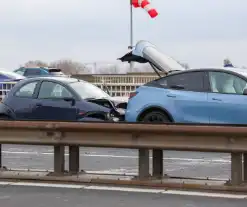
[[[243,69],[243,68],[234,68],[234,67],[206,67],[206,68],[191,68],[191,69],[186,69],[186,70],[182,70],[182,71],[173,71],[171,73],[169,73],[168,75],[172,75],[172,74],[179,74],[179,73],[186,73],[186,72],[195,72],[195,71],[221,71],[221,72],[234,72],[234,73],[238,73],[242,76],[245,76],[247,78],[247,69]]]

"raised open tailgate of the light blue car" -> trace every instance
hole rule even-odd
[[[122,62],[151,63],[160,72],[164,73],[186,70],[176,60],[162,53],[154,44],[146,40],[137,42],[134,49],[119,60]]]

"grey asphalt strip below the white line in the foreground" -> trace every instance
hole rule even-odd
[[[0,187],[2,207],[246,207],[246,200],[47,187]]]

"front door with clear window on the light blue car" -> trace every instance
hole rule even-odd
[[[246,80],[233,73],[208,72],[210,123],[247,124]]]

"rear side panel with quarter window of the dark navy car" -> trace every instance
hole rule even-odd
[[[36,105],[35,95],[37,93],[39,81],[28,82],[21,85],[17,89],[11,98],[8,98],[5,102],[13,112],[16,119],[29,120],[34,119],[33,109]]]

